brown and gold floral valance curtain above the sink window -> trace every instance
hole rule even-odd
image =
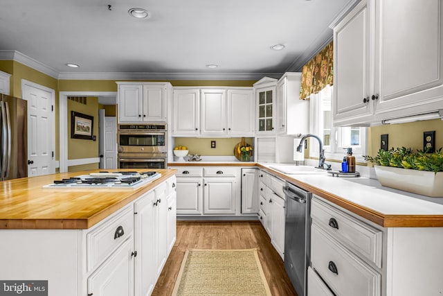
[[[334,78],[334,46],[327,44],[302,70],[300,100],[320,92],[326,85],[332,85]]]

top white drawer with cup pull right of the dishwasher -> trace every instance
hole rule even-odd
[[[311,217],[345,247],[381,268],[383,233],[379,229],[335,209],[318,198],[312,199]]]

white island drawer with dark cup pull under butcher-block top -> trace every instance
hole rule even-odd
[[[113,218],[87,233],[87,270],[93,270],[134,231],[134,209],[126,207]]]

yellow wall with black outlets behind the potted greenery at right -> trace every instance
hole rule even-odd
[[[435,130],[435,148],[443,147],[443,121],[433,119],[413,123],[379,125],[369,128],[368,155],[375,156],[380,149],[380,135],[388,134],[389,148],[423,149],[423,132]]]

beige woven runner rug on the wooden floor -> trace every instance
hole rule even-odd
[[[270,296],[257,249],[186,250],[172,296]]]

